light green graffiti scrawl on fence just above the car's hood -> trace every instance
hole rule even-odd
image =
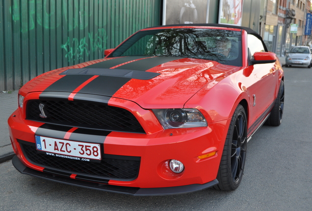
[[[88,57],[90,52],[99,51],[99,53],[103,53],[105,47],[106,31],[103,28],[99,29],[94,36],[93,33],[89,33],[88,37],[80,40],[68,37],[67,42],[61,45],[61,48],[66,51],[65,57],[69,63],[84,60],[84,56]]]

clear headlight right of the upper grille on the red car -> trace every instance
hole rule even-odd
[[[196,108],[153,109],[164,129],[185,127],[207,127],[202,113]]]

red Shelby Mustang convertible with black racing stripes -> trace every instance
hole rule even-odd
[[[247,141],[281,124],[284,73],[249,28],[146,28],[104,54],[19,90],[21,173],[132,195],[235,190]]]

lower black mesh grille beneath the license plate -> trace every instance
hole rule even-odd
[[[84,176],[100,177],[101,179],[129,181],[134,180],[139,172],[140,157],[111,155],[114,158],[104,157],[101,163],[95,163],[46,155],[38,153],[35,146],[21,143],[20,145],[28,161],[45,168]]]

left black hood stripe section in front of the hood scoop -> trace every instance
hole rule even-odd
[[[66,75],[51,84],[45,91],[73,92],[79,85],[91,77],[92,75]]]

